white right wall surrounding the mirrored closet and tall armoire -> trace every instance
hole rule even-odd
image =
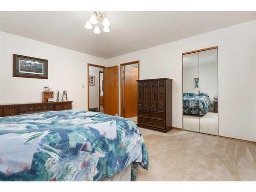
[[[140,79],[172,78],[173,126],[182,127],[182,53],[219,46],[219,134],[256,141],[255,34],[253,20],[110,58],[108,66],[140,60]]]

